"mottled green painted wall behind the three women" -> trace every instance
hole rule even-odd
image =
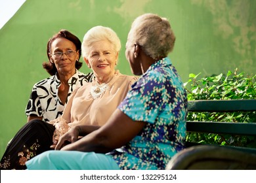
[[[46,44],[59,29],[83,39],[95,25],[112,27],[122,42],[118,69],[131,75],[125,42],[131,22],[144,12],[165,16],[177,36],[170,55],[182,80],[239,71],[255,74],[256,1],[250,0],[27,0],[0,30],[0,155],[26,123],[24,109],[35,82],[49,76]],[[81,71],[89,69],[84,64]]]

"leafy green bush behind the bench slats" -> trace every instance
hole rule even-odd
[[[190,74],[188,82],[184,83],[188,100],[207,99],[255,99],[256,75],[238,73],[238,69],[226,75],[199,78]],[[213,122],[256,122],[255,112],[188,112],[188,121]],[[217,135],[206,133],[187,133],[186,141],[202,144],[221,144],[230,146],[247,146],[256,148],[256,138],[241,135]]]

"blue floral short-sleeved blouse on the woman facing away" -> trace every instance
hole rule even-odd
[[[165,169],[184,148],[186,107],[186,92],[171,60],[151,65],[118,107],[134,121],[147,122],[125,152],[112,154],[120,169]]]

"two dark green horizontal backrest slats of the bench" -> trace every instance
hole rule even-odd
[[[189,112],[237,112],[256,111],[256,99],[188,101]],[[255,135],[255,123],[186,122],[186,130],[202,133],[226,133]]]

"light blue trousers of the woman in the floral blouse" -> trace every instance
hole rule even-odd
[[[49,150],[26,162],[28,170],[119,170],[112,158],[95,152]]]

